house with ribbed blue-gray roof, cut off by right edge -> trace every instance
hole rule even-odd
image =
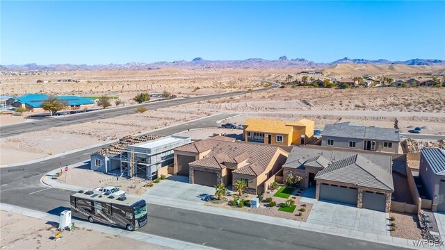
[[[445,212],[445,150],[421,149],[419,177],[432,200],[431,210]]]

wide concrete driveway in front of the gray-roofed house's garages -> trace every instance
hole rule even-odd
[[[375,233],[389,236],[387,213],[356,208],[341,203],[316,201],[307,222],[354,231],[356,235]]]

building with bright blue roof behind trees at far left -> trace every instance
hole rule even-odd
[[[42,104],[49,98],[47,94],[25,94],[21,97],[15,97],[12,104],[15,108],[26,108],[31,112],[44,112]],[[72,95],[57,96],[58,99],[66,103],[65,110],[82,110],[93,108],[95,102],[85,97],[77,97]]]

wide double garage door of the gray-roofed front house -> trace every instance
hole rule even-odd
[[[320,199],[357,205],[357,188],[347,188],[340,185],[320,185]]]

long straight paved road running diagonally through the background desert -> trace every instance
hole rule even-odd
[[[252,92],[259,92],[264,90],[269,90],[271,88],[277,88],[279,85],[277,83],[273,83],[272,86],[268,88],[261,88],[258,90],[252,90]],[[26,122],[22,124],[13,124],[8,126],[0,127],[0,138],[6,138],[12,135],[19,135],[21,133],[27,133],[32,131],[42,131],[47,128],[51,128],[54,126],[67,126],[70,124],[79,124],[83,122],[91,122],[97,119],[106,119],[111,117],[118,117],[122,115],[129,115],[135,113],[136,108],[145,107],[149,110],[155,110],[158,108],[166,108],[171,106],[179,106],[186,103],[193,103],[196,101],[207,101],[210,99],[218,99],[223,97],[232,97],[239,94],[245,94],[248,91],[235,91],[235,92],[227,92],[222,94],[212,94],[205,95],[200,97],[191,97],[184,99],[172,99],[169,101],[155,101],[152,103],[142,103],[133,106],[125,106],[120,108],[110,108],[106,110],[97,110],[88,113],[81,113],[77,115],[67,115],[61,117],[49,117],[48,119],[36,120],[34,122]]]

